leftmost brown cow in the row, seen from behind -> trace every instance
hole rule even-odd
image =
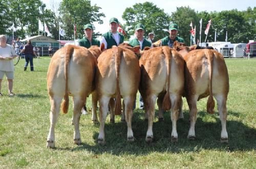
[[[65,46],[56,51],[51,59],[47,73],[47,88],[50,97],[50,131],[47,137],[47,147],[54,148],[54,129],[61,108],[67,114],[69,96],[73,97],[74,144],[81,144],[79,120],[83,103],[95,89],[93,83],[96,72],[96,58],[103,50],[92,46],[90,49],[74,45]]]

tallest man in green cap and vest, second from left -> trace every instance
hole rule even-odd
[[[110,19],[110,31],[102,34],[100,44],[104,43],[105,49],[110,49],[112,46],[123,43],[123,35],[121,35],[117,29],[119,26],[119,21],[117,18]]]

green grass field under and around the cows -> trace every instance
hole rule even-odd
[[[216,112],[206,112],[206,99],[198,102],[196,139],[186,138],[188,106],[178,121],[178,143],[170,142],[169,112],[164,122],[155,118],[154,141],[145,143],[147,122],[135,109],[134,143],[126,141],[126,124],[105,125],[105,145],[97,144],[99,125],[91,114],[82,115],[82,145],[73,144],[72,103],[60,114],[55,129],[55,149],[46,148],[50,103],[46,74],[50,59],[34,60],[35,71],[23,71],[24,60],[15,67],[14,97],[8,96],[7,80],[0,98],[0,168],[256,168],[256,59],[226,59],[230,91],[227,101],[228,144],[220,143],[221,123]],[[184,100],[184,99],[183,99]],[[91,107],[90,98],[87,101]],[[137,99],[138,107],[138,99]],[[217,107],[217,106],[216,106]],[[215,107],[215,110],[217,108]],[[156,110],[157,111],[157,110]]]

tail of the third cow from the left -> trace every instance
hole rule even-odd
[[[163,98],[162,108],[164,111],[169,110],[172,107],[172,102],[170,101],[170,65],[172,64],[172,49],[163,47],[163,53],[165,55],[165,63],[167,64],[167,91]]]

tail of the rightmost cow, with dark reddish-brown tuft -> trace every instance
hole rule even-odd
[[[209,49],[205,49],[205,50],[206,50],[205,55],[209,64],[209,97],[207,100],[207,112],[209,114],[214,114],[215,101],[214,101],[214,97],[212,96],[212,69],[213,69],[214,53]]]

